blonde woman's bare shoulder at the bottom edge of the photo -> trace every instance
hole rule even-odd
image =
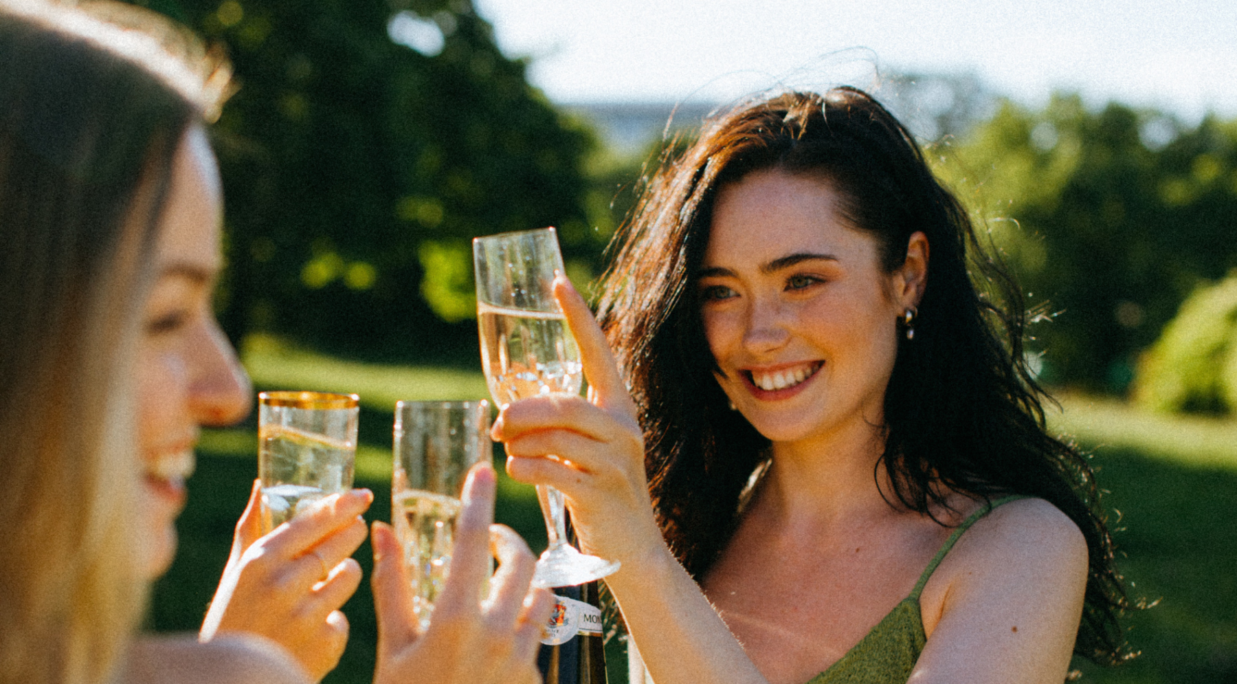
[[[189,636],[145,636],[130,651],[127,684],[308,684],[280,646],[251,635],[199,643]]]

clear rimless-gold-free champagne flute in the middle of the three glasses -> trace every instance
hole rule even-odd
[[[450,571],[464,477],[491,459],[490,402],[397,402],[393,437],[391,523],[424,630]]]

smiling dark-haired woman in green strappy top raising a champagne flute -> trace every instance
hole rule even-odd
[[[557,289],[591,401],[513,403],[495,435],[622,562],[606,583],[654,682],[1047,684],[1072,653],[1127,657],[1019,291],[876,100],[706,122],[617,244],[600,328]]]

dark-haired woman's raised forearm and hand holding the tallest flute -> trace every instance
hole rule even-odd
[[[762,684],[760,670],[662,538],[644,479],[636,406],[605,334],[567,278],[555,280],[554,296],[580,345],[589,400],[548,395],[503,408],[492,435],[506,445],[507,472],[558,487],[571,508],[580,548],[622,562],[606,585],[657,682]]]

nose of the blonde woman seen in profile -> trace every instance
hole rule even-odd
[[[203,425],[230,425],[249,416],[254,393],[249,375],[219,325],[210,320],[199,335],[190,364],[189,403]]]

